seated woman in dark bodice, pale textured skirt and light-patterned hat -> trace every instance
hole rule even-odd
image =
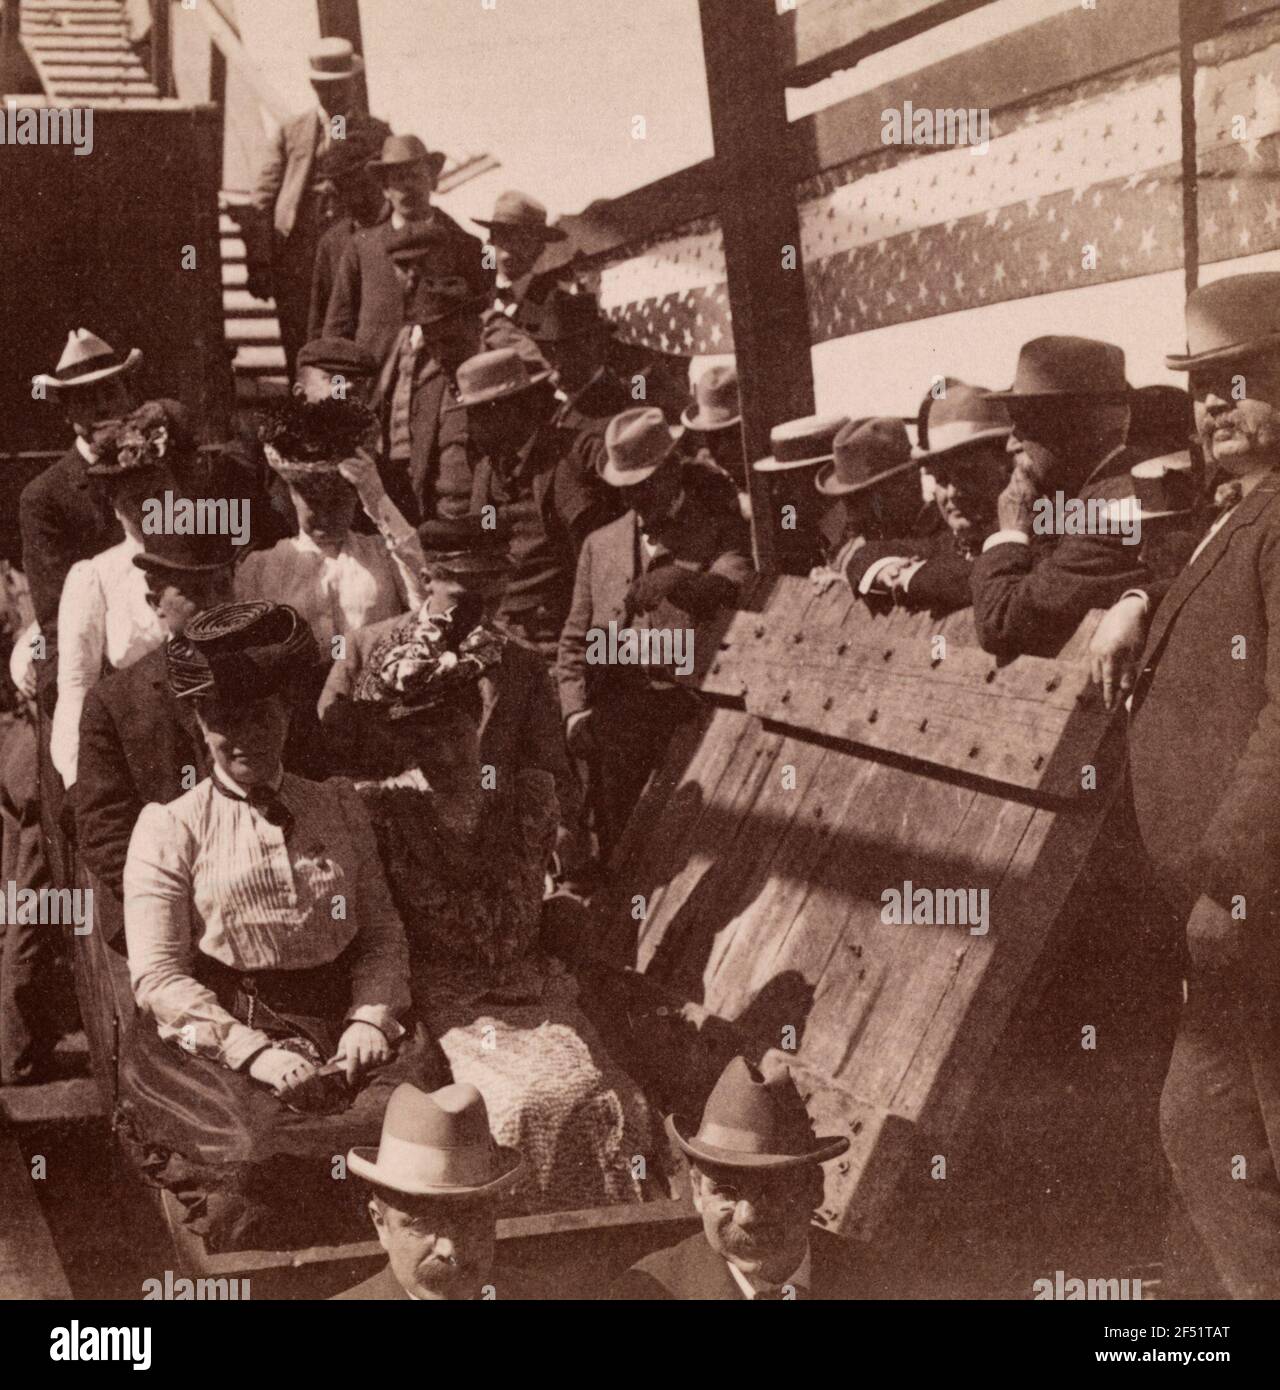
[[[418,1016],[456,1081],[485,1097],[499,1144],[528,1168],[525,1212],[643,1200],[643,1097],[606,1054],[577,983],[539,951],[543,866],[559,810],[549,771],[482,769],[478,681],[504,639],[453,614],[406,617],[354,689],[367,721],[367,799],[404,919]]]

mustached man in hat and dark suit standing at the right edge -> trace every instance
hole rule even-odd
[[[1092,653],[1131,689],[1130,784],[1190,955],[1160,1134],[1226,1291],[1280,1297],[1280,274],[1187,299],[1219,516],[1172,580],[1126,595]],[[1137,653],[1137,660],[1134,656]]]

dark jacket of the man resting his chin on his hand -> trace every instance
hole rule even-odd
[[[1130,467],[1141,455],[1122,449],[1076,493],[1133,496]],[[983,648],[996,656],[1056,656],[1091,609],[1110,607],[1149,578],[1137,545],[1119,535],[1033,537],[994,545],[973,563],[973,620]]]

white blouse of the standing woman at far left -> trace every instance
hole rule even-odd
[[[142,545],[128,537],[67,573],[58,602],[58,703],[50,755],[63,783],[75,783],[85,696],[101,680],[103,662],[132,666],[164,641],[147,603],[146,575],[133,564]]]

